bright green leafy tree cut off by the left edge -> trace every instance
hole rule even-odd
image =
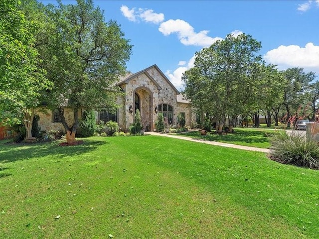
[[[34,109],[50,83],[38,68],[34,36],[40,22],[28,18],[23,10],[21,1],[0,1],[0,121],[9,125],[22,121],[28,138]]]

